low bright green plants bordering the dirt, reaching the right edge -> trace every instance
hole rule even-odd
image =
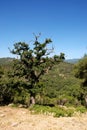
[[[87,112],[87,109],[84,106],[79,107],[63,107],[63,106],[56,106],[56,107],[50,107],[50,106],[42,106],[42,105],[35,105],[29,109],[31,113],[34,114],[45,114],[45,115],[51,115],[54,117],[71,117],[77,112],[79,114]]]

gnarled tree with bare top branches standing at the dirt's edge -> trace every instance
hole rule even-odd
[[[53,49],[47,49],[47,45],[51,42],[51,39],[46,39],[43,43],[40,43],[38,36],[35,36],[33,49],[24,42],[18,42],[14,44],[14,49],[11,50],[12,54],[19,56],[19,59],[14,62],[13,77],[17,76],[24,79],[26,82],[25,88],[30,93],[31,104],[35,103],[36,93],[38,88],[41,87],[39,84],[40,77],[54,64],[54,59],[48,57],[53,51]],[[64,58],[63,53],[59,58]]]

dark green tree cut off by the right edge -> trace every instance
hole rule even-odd
[[[74,67],[75,77],[81,79],[81,88],[83,89],[81,99],[85,99],[87,105],[87,55],[85,55]]]

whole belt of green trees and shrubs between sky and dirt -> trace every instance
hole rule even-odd
[[[73,106],[86,110],[87,55],[76,63],[67,62],[64,53],[50,57],[54,49],[51,42],[45,39],[41,43],[35,37],[33,49],[18,42],[9,49],[17,58],[0,59],[1,106],[22,104],[40,110]]]

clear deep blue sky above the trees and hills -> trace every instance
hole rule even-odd
[[[87,0],[0,0],[0,57],[14,57],[15,42],[51,38],[66,59],[87,53]]]

